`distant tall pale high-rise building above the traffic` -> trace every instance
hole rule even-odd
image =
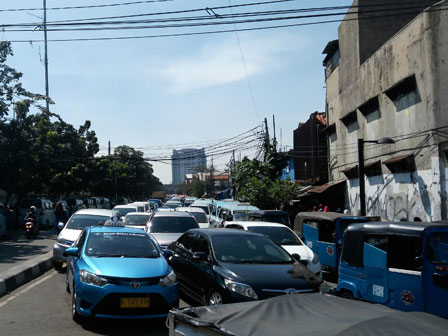
[[[173,149],[171,158],[173,184],[182,184],[185,181],[185,174],[193,174],[198,169],[207,167],[207,157],[204,148]]]

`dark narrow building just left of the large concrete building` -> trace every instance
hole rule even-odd
[[[299,123],[294,130],[295,180],[305,184],[323,184],[328,181],[326,117],[314,112],[310,118]]]

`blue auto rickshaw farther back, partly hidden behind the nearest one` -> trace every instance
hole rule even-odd
[[[319,256],[322,268],[335,272],[339,265],[345,229],[350,224],[368,221],[366,217],[336,212],[300,212],[294,220],[294,231]]]

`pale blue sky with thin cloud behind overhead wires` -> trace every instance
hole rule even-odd
[[[47,21],[75,20],[168,11],[202,9],[170,15],[132,18],[179,18],[268,10],[292,10],[347,6],[352,1],[291,0],[256,6],[216,9],[268,0],[47,0]],[[3,24],[42,22],[43,0],[1,1]],[[73,6],[120,6],[54,9]],[[209,9],[208,11],[206,9]],[[21,9],[5,11],[10,9]],[[22,10],[26,9],[26,10]],[[345,12],[345,9],[336,12]],[[317,12],[321,13],[321,12]],[[328,12],[327,12],[328,13]],[[305,13],[308,14],[308,13]],[[293,15],[305,15],[293,14]],[[315,14],[315,13],[312,13]],[[230,148],[224,139],[246,133],[268,118],[273,133],[275,115],[277,142],[293,145],[293,130],[314,111],[325,110],[325,78],[322,51],[337,39],[338,23],[235,32],[263,26],[298,24],[341,19],[330,16],[273,22],[235,23],[205,27],[145,28],[109,31],[49,31],[49,87],[55,102],[51,112],[75,126],[90,120],[100,144],[98,155],[120,145],[144,152],[154,174],[170,183],[172,149],[216,146]],[[130,20],[125,18],[123,20]],[[238,19],[236,19],[238,20]],[[209,20],[210,21],[210,20]],[[118,27],[117,25],[114,25]],[[43,32],[0,32],[13,42],[14,56],[7,63],[23,73],[24,87],[45,93]],[[108,41],[55,42],[54,39],[129,37],[187,32],[231,30],[228,33]],[[174,146],[173,146],[174,145]],[[288,147],[285,147],[286,149]],[[237,158],[253,157],[254,144],[236,147]],[[241,152],[239,151],[241,149]],[[227,151],[214,153],[215,168],[224,170]],[[208,162],[211,162],[211,157]]]

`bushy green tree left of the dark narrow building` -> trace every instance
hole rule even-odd
[[[248,201],[260,209],[277,209],[285,201],[294,199],[299,193],[299,187],[289,180],[278,179],[283,165],[269,155],[266,161],[245,157],[238,162],[235,172],[238,199]]]

